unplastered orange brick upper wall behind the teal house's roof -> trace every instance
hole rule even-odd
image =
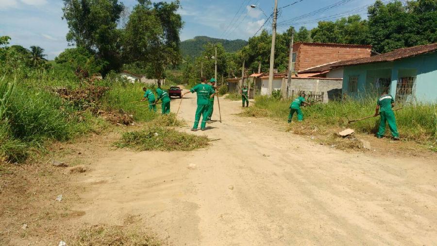
[[[371,46],[296,43],[293,52],[297,54],[295,70],[300,71],[331,62],[370,57]]]

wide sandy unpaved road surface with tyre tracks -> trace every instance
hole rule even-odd
[[[93,163],[77,180],[79,220],[138,215],[172,245],[437,245],[435,160],[334,150],[220,103],[223,122],[195,133],[216,140],[204,149],[121,149]],[[189,94],[189,126],[195,110]]]

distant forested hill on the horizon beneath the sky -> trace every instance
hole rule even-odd
[[[242,39],[227,40],[207,36],[196,36],[193,39],[181,42],[181,52],[183,57],[186,55],[191,57],[199,56],[203,51],[203,45],[208,42],[213,44],[221,43],[227,52],[236,52],[247,45],[247,41]]]

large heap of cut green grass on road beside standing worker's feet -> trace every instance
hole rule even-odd
[[[191,151],[208,145],[209,140],[206,136],[196,136],[167,127],[173,125],[173,121],[174,116],[161,116],[146,124],[143,130],[124,133],[121,140],[116,142],[116,146],[138,151]],[[184,124],[176,120],[174,125]]]

